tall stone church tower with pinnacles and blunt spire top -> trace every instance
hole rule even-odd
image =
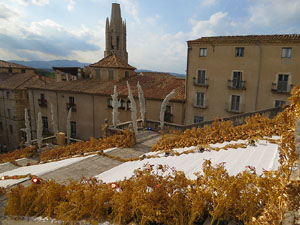
[[[106,18],[104,57],[112,53],[128,63],[126,22],[122,21],[120,4],[112,3],[110,21]]]

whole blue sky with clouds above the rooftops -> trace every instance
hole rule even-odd
[[[99,61],[113,2],[138,69],[185,73],[202,36],[300,33],[300,0],[0,0],[0,59]]]

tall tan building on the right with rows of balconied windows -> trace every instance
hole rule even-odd
[[[185,123],[280,107],[300,85],[300,35],[187,42]]]

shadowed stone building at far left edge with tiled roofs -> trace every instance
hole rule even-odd
[[[0,150],[16,149],[25,127],[24,109],[29,108],[27,86],[47,84],[52,79],[34,74],[34,69],[0,61]]]

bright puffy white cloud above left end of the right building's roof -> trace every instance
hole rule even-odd
[[[208,20],[191,20],[193,25],[189,38],[199,38],[201,36],[213,36],[220,32],[220,28],[224,26],[224,19],[227,13],[217,12],[210,16]]]

